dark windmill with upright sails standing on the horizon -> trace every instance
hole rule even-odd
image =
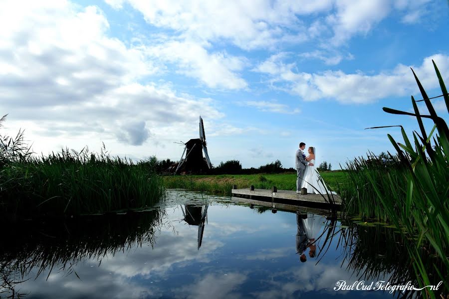
[[[211,159],[209,158],[206,134],[204,133],[203,119],[200,116],[200,138],[191,139],[184,144],[183,155],[179,160],[175,173],[184,172],[203,172],[212,168]],[[203,152],[205,157],[203,157]],[[186,154],[186,157],[184,157]]]

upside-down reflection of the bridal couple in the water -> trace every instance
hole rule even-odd
[[[296,212],[296,223],[298,230],[296,233],[296,251],[299,254],[301,262],[307,261],[305,255],[308,249],[308,256],[310,258],[316,257],[316,243],[317,236],[320,232],[321,225],[326,221],[326,218],[317,214],[301,214]]]

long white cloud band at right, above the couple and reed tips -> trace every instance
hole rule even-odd
[[[398,65],[391,71],[377,75],[362,72],[347,74],[342,71],[322,73],[295,73],[295,64],[285,64],[282,56],[272,56],[254,70],[269,74],[273,80],[284,83],[281,89],[299,95],[305,101],[336,99],[341,103],[371,103],[378,99],[414,94],[417,85],[410,67]],[[442,74],[449,73],[449,56],[436,54],[426,57],[421,66],[412,66],[425,88],[439,86],[432,59]]]

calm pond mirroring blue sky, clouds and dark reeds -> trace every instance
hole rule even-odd
[[[393,229],[196,192],[168,190],[152,211],[7,231],[2,297],[392,298],[334,288],[413,280]]]

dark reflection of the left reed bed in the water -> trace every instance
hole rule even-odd
[[[3,232],[0,244],[0,293],[19,298],[15,287],[53,271],[76,275],[75,266],[86,260],[98,265],[105,257],[135,246],[154,246],[155,233],[163,225],[164,210],[123,215],[83,216],[61,221],[17,222]],[[35,274],[34,274],[35,273]]]

